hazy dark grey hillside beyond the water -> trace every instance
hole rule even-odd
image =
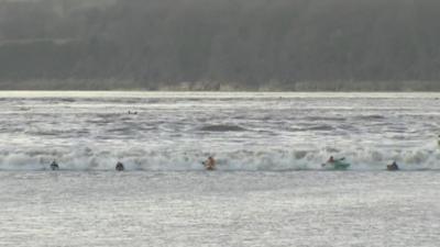
[[[2,0],[0,89],[440,90],[439,0]]]

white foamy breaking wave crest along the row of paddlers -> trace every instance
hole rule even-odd
[[[56,149],[26,153],[3,151],[0,154],[1,170],[48,170],[56,160],[62,170],[113,170],[118,161],[127,170],[145,171],[197,171],[204,170],[201,161],[208,156],[217,160],[217,169],[224,171],[287,171],[321,170],[321,164],[330,156],[344,157],[351,164],[350,170],[383,170],[396,160],[403,170],[440,169],[440,151],[436,147],[420,149],[360,149],[339,151],[330,147],[318,149],[241,149],[226,153],[173,151],[128,149],[120,151],[82,148]]]

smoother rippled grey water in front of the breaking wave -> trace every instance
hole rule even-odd
[[[438,171],[3,171],[0,246],[437,247]]]

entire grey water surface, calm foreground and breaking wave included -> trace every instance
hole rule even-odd
[[[0,92],[0,246],[437,247],[439,98]]]

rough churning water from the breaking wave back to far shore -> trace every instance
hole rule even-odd
[[[436,93],[1,92],[0,169],[440,169]],[[130,114],[130,113],[131,114]]]

